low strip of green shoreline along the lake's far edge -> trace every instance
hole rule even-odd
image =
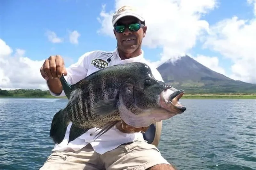
[[[0,96],[0,98],[55,98],[67,99],[67,97],[46,96]],[[182,99],[256,99],[256,94],[184,94]]]

